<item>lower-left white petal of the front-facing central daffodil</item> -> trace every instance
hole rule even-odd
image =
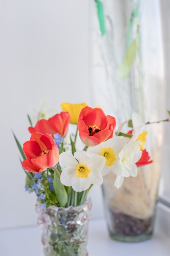
[[[65,186],[72,186],[76,182],[75,169],[71,167],[66,167],[61,173],[60,177],[61,183]]]

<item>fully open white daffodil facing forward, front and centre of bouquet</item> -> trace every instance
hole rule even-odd
[[[105,158],[95,154],[88,154],[83,150],[74,153],[63,152],[59,156],[62,173],[60,180],[65,186],[81,192],[88,189],[91,184],[103,183],[101,170],[105,164]]]

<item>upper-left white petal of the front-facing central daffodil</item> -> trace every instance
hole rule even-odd
[[[59,155],[59,163],[62,169],[66,168],[67,166],[76,168],[76,166],[78,165],[77,160],[69,151],[63,152]]]

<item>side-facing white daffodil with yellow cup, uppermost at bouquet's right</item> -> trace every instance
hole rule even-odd
[[[132,124],[132,135],[136,138],[137,141],[141,141],[139,147],[141,150],[144,150],[146,146],[146,135],[148,132],[146,131],[146,125],[141,122],[139,115],[135,112],[132,114]]]

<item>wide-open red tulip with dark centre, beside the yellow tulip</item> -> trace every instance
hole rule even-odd
[[[115,126],[115,117],[106,116],[101,108],[85,107],[79,114],[79,137],[87,146],[112,138]]]

